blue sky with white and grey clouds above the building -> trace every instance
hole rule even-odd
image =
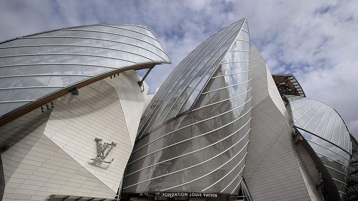
[[[358,137],[357,1],[0,0],[0,40],[86,24],[149,26],[173,62],[147,77],[153,92],[191,50],[244,17],[271,73],[294,74]]]

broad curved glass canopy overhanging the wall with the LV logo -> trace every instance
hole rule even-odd
[[[139,25],[86,25],[3,41],[0,116],[82,80],[151,62],[170,60]]]

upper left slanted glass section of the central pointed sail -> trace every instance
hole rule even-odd
[[[192,107],[242,25],[243,20],[240,20],[227,26],[205,40],[179,63],[142,116],[137,139]],[[248,40],[247,33],[240,37]]]

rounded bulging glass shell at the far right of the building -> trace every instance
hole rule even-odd
[[[352,142],[343,119],[333,108],[318,100],[294,95],[286,98],[297,131],[313,148],[344,199]]]

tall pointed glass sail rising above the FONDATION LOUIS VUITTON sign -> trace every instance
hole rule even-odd
[[[238,195],[251,123],[249,57],[242,19],[180,62],[142,116],[124,193]]]

